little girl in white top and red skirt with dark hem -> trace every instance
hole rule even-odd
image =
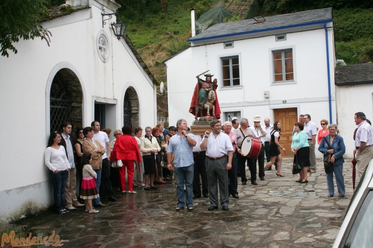
[[[83,165],[83,179],[81,181],[80,198],[84,199],[84,202],[86,204],[86,212],[98,213],[100,211],[92,207],[92,199],[98,197],[98,191],[96,189],[95,183],[97,174],[92,169],[92,166],[90,165],[91,162],[91,153],[83,153],[83,155],[81,156],[81,164]]]

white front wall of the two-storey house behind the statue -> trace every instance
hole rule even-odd
[[[330,75],[334,75],[333,31],[328,31],[328,38]],[[272,51],[283,49],[293,49],[295,80],[274,83]],[[239,57],[241,85],[223,87],[221,58],[230,56]],[[287,107],[297,107],[298,115],[309,114],[318,127],[321,119],[329,119],[324,29],[287,33],[285,41],[276,41],[275,35],[234,40],[234,47],[230,49],[224,49],[223,42],[194,46],[165,63],[170,123],[178,118],[185,118],[188,122],[194,120],[188,110],[197,82],[195,76],[206,70],[210,70],[209,73],[218,80],[222,121],[225,121],[223,112],[241,111],[241,117],[250,123],[254,115],[270,117],[273,123],[273,109]],[[270,92],[269,99],[264,98],[264,91]],[[336,122],[334,92],[332,80],[331,112],[333,122]],[[316,154],[321,157],[318,151]]]

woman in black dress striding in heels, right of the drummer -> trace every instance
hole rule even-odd
[[[280,143],[278,142],[280,140],[280,132],[281,132],[281,123],[280,122],[275,122],[273,124],[273,128],[271,131],[271,142],[270,142],[270,156],[271,156],[271,161],[268,162],[264,166],[264,171],[266,171],[268,168],[270,168],[276,161],[277,162],[277,176],[283,176],[281,174],[281,164],[282,164],[282,156],[280,153],[280,150],[286,151],[285,147],[282,147]]]

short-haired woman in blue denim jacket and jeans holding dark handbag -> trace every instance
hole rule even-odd
[[[333,171],[326,173],[326,182],[328,185],[328,197],[334,196],[334,182],[333,182],[333,172],[336,176],[338,197],[344,197],[344,178],[343,178],[343,154],[346,147],[343,142],[343,138],[337,134],[337,125],[330,124],[329,135],[325,136],[320,143],[319,151],[324,153],[324,162],[330,161],[333,164]]]

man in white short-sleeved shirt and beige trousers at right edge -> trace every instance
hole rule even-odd
[[[354,119],[356,125],[358,125],[354,154],[356,154],[359,176],[361,178],[373,158],[373,128],[366,121],[366,116],[363,112],[357,112]]]

